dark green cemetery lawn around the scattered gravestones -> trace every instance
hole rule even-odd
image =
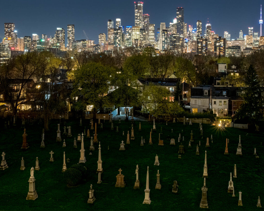
[[[101,121],[103,122],[103,121]],[[126,143],[126,134],[131,135],[131,123],[114,121],[114,131],[111,131],[109,122],[103,123],[103,130],[97,127],[98,140],[101,141],[102,183],[97,184],[98,175],[98,144],[95,151],[89,155],[90,138],[84,137],[84,149],[88,170],[87,182],[76,188],[68,188],[63,179],[63,152],[65,151],[67,168],[77,164],[80,158],[81,142],[78,148],[73,148],[73,140],[81,133],[88,120],[69,120],[67,126],[72,126],[72,137],[62,135],[63,123],[60,125],[62,142],[56,142],[57,121],[51,122],[50,131],[45,132],[45,148],[40,148],[42,125],[26,125],[27,141],[29,148],[22,151],[21,125],[1,132],[0,152],[6,153],[8,169],[0,171],[0,199],[1,210],[200,210],[202,197],[201,188],[204,183],[202,178],[205,150],[207,151],[208,178],[206,179],[207,200],[210,210],[256,210],[258,196],[262,207],[264,206],[264,135],[262,133],[248,133],[244,130],[227,128],[219,131],[218,127],[203,124],[204,137],[201,138],[199,124],[183,126],[182,123],[156,123],[157,131],[153,131],[153,146],[149,146],[149,132],[153,123],[141,122],[142,131],[138,131],[139,122],[134,122],[135,140],[130,140],[130,145],[125,145],[125,151],[119,151],[120,143]],[[116,126],[119,133],[116,133]],[[158,146],[158,136],[162,127],[164,146]],[[171,129],[173,128],[173,133]],[[2,128],[3,129],[3,128]],[[183,132],[182,132],[183,130]],[[188,148],[191,130],[194,133],[194,142]],[[125,136],[122,136],[125,131]],[[68,130],[67,130],[68,132]],[[178,135],[184,136],[185,154],[178,159]],[[90,134],[92,132],[90,131]],[[213,143],[210,137],[213,134]],[[175,139],[175,146],[170,146],[167,135]],[[241,135],[242,156],[237,156],[239,135]],[[144,146],[140,146],[141,136],[145,138]],[[206,137],[209,137],[210,148],[205,148]],[[229,138],[228,152],[224,155],[225,139]],[[63,148],[63,139],[66,148]],[[200,156],[195,155],[196,145],[199,147]],[[262,145],[261,145],[261,142]],[[109,146],[109,150],[107,147]],[[257,148],[256,159],[253,155]],[[49,162],[50,151],[54,152],[54,162]],[[154,166],[155,155],[159,157],[159,166]],[[25,160],[24,171],[20,170],[21,158]],[[36,157],[39,159],[39,171],[34,171],[35,186],[38,198],[35,201],[26,200],[29,190],[30,168],[35,167]],[[134,190],[136,180],[135,169],[139,165],[140,189]],[[234,172],[237,165],[237,178],[233,178],[235,197],[227,193],[230,172]],[[147,166],[149,166],[149,189],[151,204],[142,204],[146,185]],[[118,169],[122,169],[125,176],[125,188],[115,188]],[[160,173],[161,190],[155,190],[157,170]],[[172,193],[173,181],[177,180],[178,193]],[[96,198],[93,204],[87,204],[90,184],[95,190]],[[242,191],[243,207],[238,207],[238,192]]]

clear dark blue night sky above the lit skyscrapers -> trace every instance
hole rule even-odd
[[[12,2],[12,3],[11,3]],[[212,30],[223,36],[224,31],[231,34],[231,39],[239,36],[239,31],[248,33],[248,27],[254,32],[260,31],[261,0],[249,1],[143,1],[143,14],[150,15],[150,23],[155,30],[160,22],[173,22],[176,18],[176,7],[184,8],[184,22],[196,27],[196,21],[202,20],[203,31],[207,18]],[[54,36],[57,27],[65,29],[67,43],[67,24],[75,25],[75,39],[89,39],[98,43],[98,34],[107,35],[107,20],[121,18],[122,26],[134,26],[134,1],[1,1],[0,36],[4,37],[4,23],[14,22],[18,37],[32,36],[32,33]],[[263,6],[264,9],[264,6]],[[264,12],[263,12],[264,13]],[[263,17],[264,18],[264,17]],[[262,18],[262,19],[263,19]],[[188,30],[188,28],[187,28]],[[264,32],[264,31],[263,31]]]

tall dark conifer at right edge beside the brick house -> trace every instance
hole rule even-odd
[[[263,117],[263,99],[261,89],[257,78],[256,70],[252,65],[249,66],[245,77],[246,88],[242,94],[244,102],[238,110],[237,118],[248,119],[249,122],[261,119]]]

